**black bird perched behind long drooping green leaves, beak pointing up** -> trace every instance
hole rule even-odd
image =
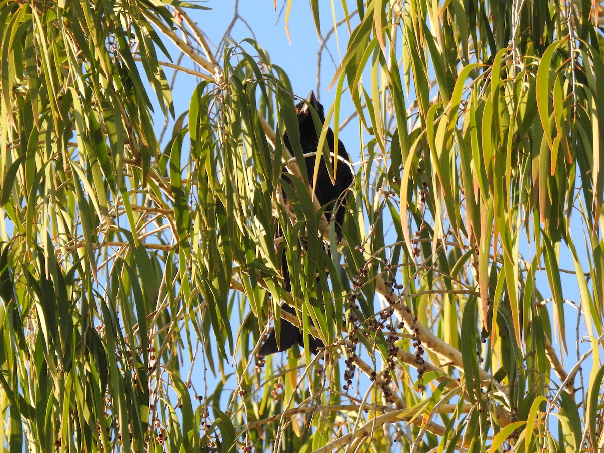
[[[316,100],[315,94],[310,91],[310,94],[306,98],[306,103],[302,101],[296,104],[298,124],[300,126],[300,146],[304,154],[316,152],[319,144],[319,138],[316,134],[315,124],[313,123],[309,106],[315,109],[319,119],[321,120],[321,123],[325,122],[323,106]],[[283,135],[283,141],[289,152],[294,155],[287,132]],[[330,152],[333,153],[333,130],[331,128],[327,130],[326,142]],[[321,150],[319,150],[319,152],[320,151]],[[338,157],[344,158],[346,160],[349,159],[348,153],[344,149],[344,145],[339,140]],[[315,155],[312,154],[310,156],[305,157],[304,163],[306,164],[306,174],[309,179],[309,184],[312,187],[312,177],[315,170]],[[333,154],[332,162],[330,162],[330,165],[332,165],[333,170]],[[332,180],[329,177],[329,172],[327,171],[327,165],[325,164],[324,159],[321,158],[319,169],[316,175],[315,196],[321,206],[325,207],[324,215],[328,222],[332,219],[336,203],[339,204],[338,209],[335,212],[335,230],[336,234],[338,235],[338,239],[341,239],[341,226],[344,222],[344,205],[346,203],[345,191],[352,184],[353,175],[349,165],[346,162],[339,161],[337,171],[334,176],[335,184],[332,184]],[[286,175],[283,175],[283,179],[285,181],[289,181],[289,177]],[[283,260],[281,262],[281,274],[283,275],[283,279],[285,281],[286,291],[291,292],[292,286],[291,281],[289,279],[289,267],[285,254],[283,254]],[[295,314],[295,309],[289,306],[288,304],[283,304],[281,307],[289,313]],[[304,338],[302,336],[301,330],[289,321],[281,320],[281,335],[279,345],[277,345],[277,336],[275,335],[275,330],[272,329],[271,333],[268,336],[268,339],[266,339],[265,344],[263,344],[260,348],[259,354],[266,356],[275,352],[284,351],[289,349],[290,347],[292,347],[292,345],[296,343],[300,345],[304,344]],[[312,335],[309,335],[310,352],[316,354],[317,348],[323,346],[324,344],[320,339],[314,338]]]

